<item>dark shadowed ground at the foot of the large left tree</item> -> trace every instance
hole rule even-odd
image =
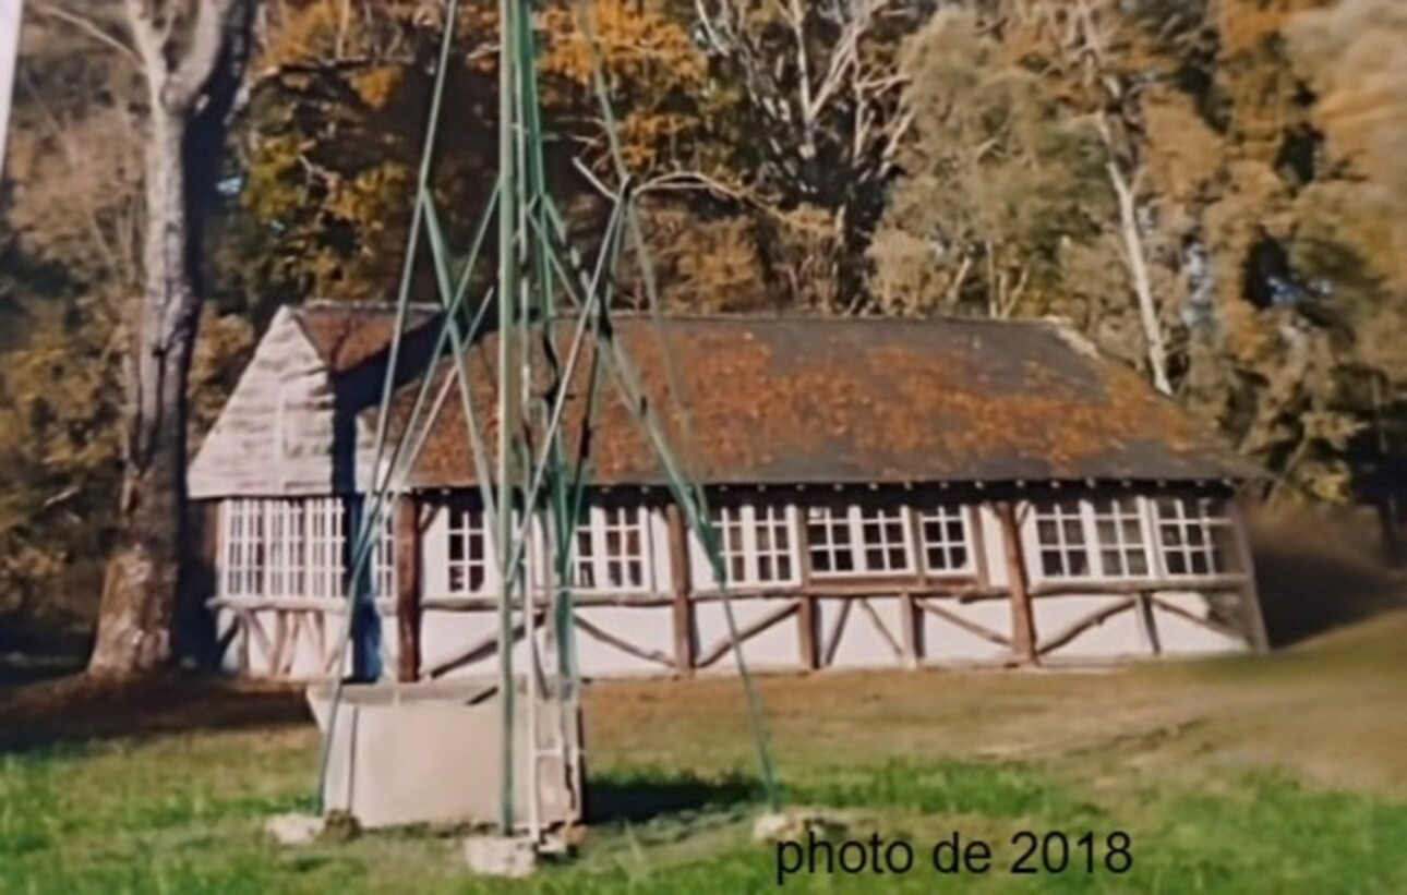
[[[310,722],[301,690],[196,675],[113,681],[80,674],[0,691],[0,753]]]

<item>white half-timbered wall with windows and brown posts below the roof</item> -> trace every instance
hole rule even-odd
[[[404,677],[491,668],[498,560],[477,495],[400,500],[409,512],[388,519],[414,521],[415,536],[388,529],[377,553],[386,667],[407,650]],[[1262,646],[1241,528],[1221,500],[1124,490],[1006,502],[808,488],[720,493],[711,504],[726,587],[671,507],[630,490],[590,505],[571,545],[584,677],[726,671],[736,667],[734,636],[760,670],[1090,663]],[[215,605],[227,667],[277,677],[332,668],[345,599],[325,592],[331,547],[319,545],[345,540],[329,533],[342,531],[326,515],[338,505],[221,504]],[[263,536],[256,563],[252,525]],[[290,546],[270,540],[274,532]],[[530,625],[545,642],[547,535],[535,523],[532,536]],[[387,559],[393,542],[415,552],[411,566]],[[414,592],[397,590],[393,569],[414,570]]]

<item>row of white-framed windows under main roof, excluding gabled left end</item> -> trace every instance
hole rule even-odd
[[[1213,576],[1231,570],[1231,525],[1216,501],[1114,498],[1033,505],[1024,531],[1041,578],[1147,578]],[[716,509],[719,552],[730,587],[801,581],[801,545],[813,578],[847,576],[971,574],[971,511],[957,507],[812,507],[775,504]],[[592,508],[577,532],[573,584],[581,590],[654,591],[651,557],[658,532],[640,507]],[[449,591],[485,590],[490,563],[481,515],[456,508],[449,523]],[[661,545],[663,547],[663,545]],[[694,545],[695,580],[713,583]]]

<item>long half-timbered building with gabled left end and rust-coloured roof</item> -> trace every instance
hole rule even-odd
[[[409,322],[393,435],[422,376],[436,377],[432,397],[452,379],[449,362],[426,369],[433,311]],[[232,673],[311,680],[336,666],[393,328],[386,305],[281,310],[191,463]],[[750,667],[1266,646],[1235,504],[1254,470],[1057,324],[618,315],[613,329],[657,412],[687,407],[687,429],[664,425],[708,488]],[[492,408],[484,341],[470,390]],[[570,388],[568,436],[584,401]],[[383,674],[401,680],[494,664],[495,552],[460,400],[428,425],[370,574]],[[609,391],[591,484],[573,557],[581,674],[730,668],[709,563]]]

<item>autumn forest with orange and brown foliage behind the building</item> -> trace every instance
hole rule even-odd
[[[1400,0],[581,1],[667,310],[1058,317],[1263,464],[1271,502],[1361,500],[1404,452]],[[590,242],[609,153],[577,3],[536,15],[549,170]],[[80,628],[142,291],[114,6],[27,7],[0,183],[0,618]],[[394,298],[443,8],[259,6],[231,127],[186,146],[193,445],[277,307]],[[433,193],[467,245],[495,7],[460,17]]]

